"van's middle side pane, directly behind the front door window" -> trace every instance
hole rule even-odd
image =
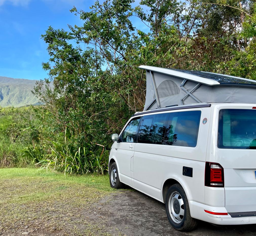
[[[139,131],[138,142],[163,144],[169,113],[145,116]]]

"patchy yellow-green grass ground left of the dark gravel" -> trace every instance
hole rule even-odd
[[[88,218],[93,204],[115,192],[108,178],[0,169],[0,234],[110,236],[100,222]]]

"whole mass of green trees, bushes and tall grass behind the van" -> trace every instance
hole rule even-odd
[[[49,61],[42,66],[49,78],[34,90],[45,105],[2,109],[1,166],[106,172],[111,134],[144,106],[139,65],[256,79],[254,0],[137,3],[96,1],[88,12],[74,7],[79,25],[46,30]],[[146,28],[136,28],[138,21]]]

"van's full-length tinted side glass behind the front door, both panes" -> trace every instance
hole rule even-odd
[[[138,142],[196,147],[201,111],[147,115],[142,118]]]

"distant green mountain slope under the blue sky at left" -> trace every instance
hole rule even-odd
[[[22,107],[39,104],[32,94],[36,80],[14,79],[0,76],[0,106]]]

